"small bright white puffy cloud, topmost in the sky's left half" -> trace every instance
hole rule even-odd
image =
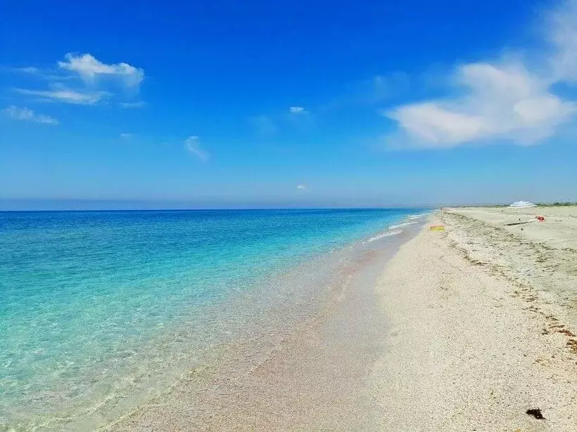
[[[89,83],[93,83],[97,77],[108,76],[119,79],[127,87],[137,89],[144,80],[144,70],[128,63],[107,65],[90,54],[68,53],[65,58],[66,61],[58,62],[58,66],[76,72]]]

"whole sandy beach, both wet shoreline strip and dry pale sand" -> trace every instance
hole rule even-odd
[[[326,313],[258,367],[225,353],[110,428],[577,431],[576,222],[574,207],[438,211],[392,257],[367,244]]]

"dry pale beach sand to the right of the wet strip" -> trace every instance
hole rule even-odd
[[[379,283],[382,430],[577,431],[576,216],[445,209],[431,218],[444,232],[400,249]]]

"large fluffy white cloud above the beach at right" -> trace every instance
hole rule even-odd
[[[448,77],[459,96],[383,112],[398,124],[389,145],[453,148],[493,140],[529,145],[552,136],[577,114],[576,103],[553,90],[577,80],[577,0],[566,1],[546,21],[550,48],[531,53],[531,63],[519,54],[459,65]]]

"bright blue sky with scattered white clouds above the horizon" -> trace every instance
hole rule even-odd
[[[577,0],[0,16],[0,209],[577,201]]]

